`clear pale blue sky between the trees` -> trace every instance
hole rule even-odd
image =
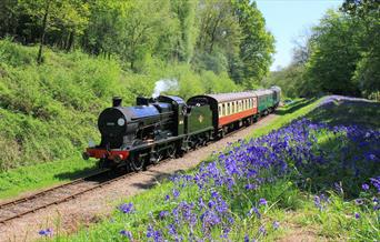
[[[257,0],[266,18],[267,29],[274,36],[276,53],[271,70],[291,62],[294,40],[318,24],[328,9],[337,9],[342,0]],[[303,34],[304,36],[304,34]]]

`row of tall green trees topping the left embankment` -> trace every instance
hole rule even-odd
[[[1,1],[0,38],[71,51],[79,48],[146,73],[152,60],[228,72],[252,88],[268,72],[273,38],[249,1]],[[254,82],[254,83],[253,83]]]

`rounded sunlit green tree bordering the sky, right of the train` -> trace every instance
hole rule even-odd
[[[362,24],[329,10],[312,31],[308,78],[323,92],[359,95],[352,77],[360,59],[357,33],[362,31]]]

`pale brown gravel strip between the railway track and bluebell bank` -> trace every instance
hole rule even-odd
[[[149,168],[148,171],[118,180],[84,193],[74,200],[14,219],[0,225],[0,242],[33,241],[40,238],[38,234],[39,230],[47,228],[53,228],[54,233],[76,232],[80,224],[97,222],[112,212],[122,199],[149,190],[158,180],[167,178],[177,171],[194,168],[202,160],[207,159],[212,151],[223,150],[227,143],[251,134],[253,130],[264,127],[274,118],[276,114],[270,114],[253,125],[237,131],[220,141],[210,143],[208,147],[191,151],[183,158],[160,163]]]

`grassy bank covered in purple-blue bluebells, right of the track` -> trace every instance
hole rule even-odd
[[[308,119],[127,199],[98,224],[70,236],[54,230],[56,240],[379,240],[380,117],[357,119],[378,109],[324,101]],[[344,119],[318,121],[331,112]]]

